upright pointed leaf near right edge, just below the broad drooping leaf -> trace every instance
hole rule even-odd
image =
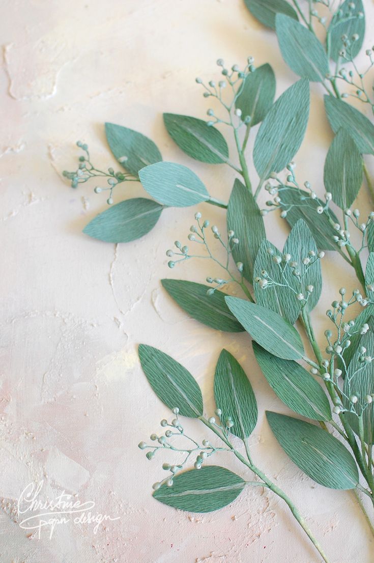
[[[326,190],[341,209],[350,207],[357,198],[362,175],[362,156],[348,131],[341,128],[328,149],[323,170]]]

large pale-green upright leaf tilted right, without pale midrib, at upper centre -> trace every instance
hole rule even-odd
[[[292,84],[275,102],[256,136],[253,162],[260,178],[280,172],[303,141],[309,117],[309,82]]]

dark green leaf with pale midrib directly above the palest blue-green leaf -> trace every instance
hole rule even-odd
[[[189,157],[208,164],[227,162],[226,140],[206,121],[188,115],[164,113],[164,123],[170,137]]]

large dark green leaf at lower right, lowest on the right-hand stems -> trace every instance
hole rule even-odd
[[[329,489],[354,489],[358,470],[343,444],[322,428],[284,414],[266,413],[274,436],[304,473]]]

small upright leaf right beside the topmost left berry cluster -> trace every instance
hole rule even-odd
[[[276,93],[276,78],[267,63],[247,74],[240,95],[235,102],[242,117],[250,116],[250,125],[260,123],[273,105]]]

